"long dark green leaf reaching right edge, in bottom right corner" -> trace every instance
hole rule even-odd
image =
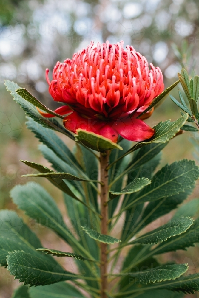
[[[131,294],[136,293],[136,297],[139,297],[139,292],[154,291],[156,289],[167,289],[171,291],[182,291],[187,294],[195,294],[194,291],[199,291],[199,273],[188,275],[186,277],[176,278],[175,280],[163,281],[161,283],[155,283],[151,285],[142,285],[128,291],[118,292],[115,297],[128,297]]]

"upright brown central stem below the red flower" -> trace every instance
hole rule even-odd
[[[100,166],[101,166],[101,234],[106,234],[108,232],[108,170],[106,170],[109,164],[109,153],[110,151],[105,151],[100,154]],[[107,298],[107,244],[101,243],[101,298]]]

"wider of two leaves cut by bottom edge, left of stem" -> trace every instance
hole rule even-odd
[[[60,282],[52,285],[44,285],[29,288],[31,298],[84,298],[74,286]]]

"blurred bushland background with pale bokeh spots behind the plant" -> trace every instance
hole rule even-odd
[[[159,66],[165,87],[174,83],[182,66],[190,76],[199,75],[199,1],[198,0],[1,0],[0,1],[0,208],[16,209],[9,197],[10,189],[28,181],[21,175],[30,173],[19,160],[27,159],[50,166],[37,149],[38,139],[25,128],[24,111],[6,91],[4,79],[25,87],[51,109],[58,103],[48,94],[45,69],[52,70],[57,61],[72,54],[93,40],[116,43],[123,40],[144,55],[149,63]],[[172,94],[178,98],[178,85]],[[180,117],[179,108],[166,97],[152,117],[150,126],[161,120]],[[61,136],[72,149],[73,142]],[[163,150],[162,165],[175,159],[195,159],[199,133],[185,132],[175,137]],[[39,181],[53,195],[64,211],[59,193],[44,178]],[[198,184],[188,198],[199,198]],[[62,240],[46,228],[30,221],[27,224],[42,238],[44,247]],[[199,213],[198,213],[199,215]],[[66,216],[66,214],[65,214]],[[161,218],[163,224],[169,219]],[[61,249],[64,250],[64,249]],[[189,273],[199,272],[199,247],[166,254],[162,261],[188,263]],[[161,261],[161,257],[160,257]],[[70,263],[65,265],[70,270]],[[0,298],[11,297],[18,280],[0,268]],[[192,297],[193,295],[186,295]],[[195,297],[199,297],[197,293]]]

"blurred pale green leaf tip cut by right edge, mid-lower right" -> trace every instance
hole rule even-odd
[[[193,217],[199,211],[199,199],[193,199],[188,203],[180,206],[175,212],[175,218],[181,218],[182,216],[190,216]]]

